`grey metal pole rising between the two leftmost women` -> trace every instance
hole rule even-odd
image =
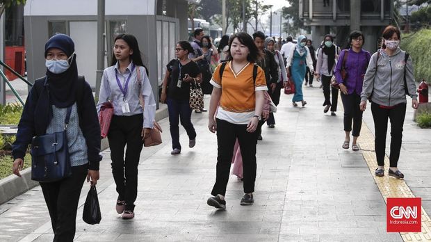
[[[97,70],[96,97],[99,98],[101,77],[105,69],[105,0],[97,0]]]

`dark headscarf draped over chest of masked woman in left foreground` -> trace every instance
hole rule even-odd
[[[67,108],[76,102],[76,86],[78,81],[78,68],[76,67],[75,45],[73,40],[65,34],[52,36],[45,44],[45,58],[49,49],[61,49],[69,59],[69,68],[60,74],[47,70],[46,81],[40,92],[38,104],[35,107],[36,131],[44,133],[52,118],[52,105],[58,108]]]

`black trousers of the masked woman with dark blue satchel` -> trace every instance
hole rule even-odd
[[[72,176],[56,182],[41,182],[43,197],[51,217],[54,241],[73,241],[76,231],[76,211],[88,164],[72,166]]]

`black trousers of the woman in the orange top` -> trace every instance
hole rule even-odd
[[[217,122],[217,172],[212,195],[225,195],[227,181],[229,181],[234,145],[238,138],[241,156],[243,156],[243,187],[244,193],[254,192],[256,180],[256,145],[257,133],[247,132],[247,124],[231,124],[225,120]]]

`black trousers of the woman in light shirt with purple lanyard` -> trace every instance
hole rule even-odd
[[[138,194],[138,164],[143,140],[140,136],[143,129],[143,115],[113,116],[108,132],[111,149],[111,167],[117,200],[126,201],[126,210],[135,208],[134,202]],[[124,146],[126,157],[124,159]]]

